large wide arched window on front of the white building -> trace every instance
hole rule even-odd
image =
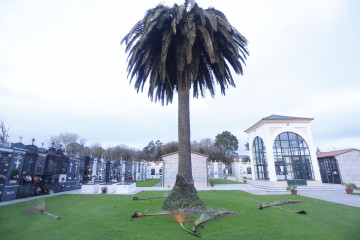
[[[274,141],[273,151],[278,181],[305,185],[306,180],[314,179],[309,148],[299,135],[281,133]]]

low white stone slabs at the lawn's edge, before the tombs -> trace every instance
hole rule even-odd
[[[107,187],[107,194],[130,194],[136,190],[136,183],[130,184],[84,184],[81,187],[81,193],[101,194],[101,188]]]

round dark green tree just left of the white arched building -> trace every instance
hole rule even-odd
[[[231,158],[237,155],[236,151],[239,148],[239,141],[229,131],[224,131],[216,135],[215,144],[221,149],[221,161],[224,163],[231,162]]]

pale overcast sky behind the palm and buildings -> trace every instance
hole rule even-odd
[[[177,100],[137,94],[121,39],[147,9],[183,1],[0,0],[0,119],[10,142],[77,133],[87,145],[177,141]],[[249,41],[226,96],[191,100],[192,140],[244,130],[271,114],[310,117],[322,151],[360,149],[360,1],[198,0]]]

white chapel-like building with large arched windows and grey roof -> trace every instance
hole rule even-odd
[[[253,184],[322,184],[310,128],[312,120],[271,115],[245,131]]]

